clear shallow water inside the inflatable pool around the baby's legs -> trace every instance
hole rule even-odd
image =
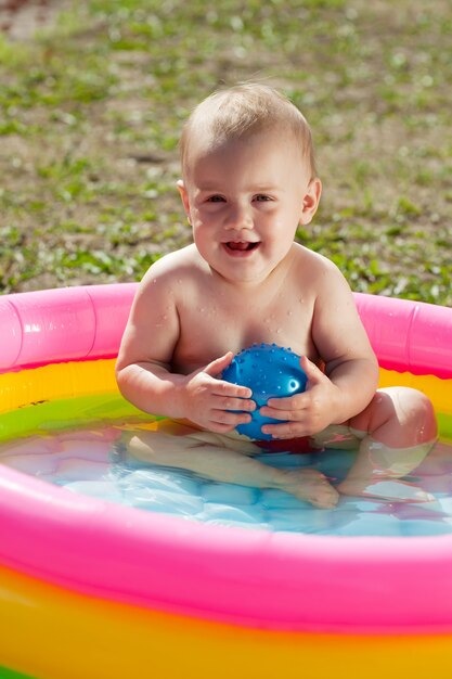
[[[434,536],[452,533],[452,445],[439,441],[428,458],[400,484],[391,500],[341,497],[332,510],[315,509],[281,490],[205,481],[191,472],[135,460],[114,446],[120,425],[65,431],[3,444],[0,462],[75,494],[170,514],[210,525],[337,536]],[[130,428],[130,425],[127,426]],[[353,451],[328,449],[308,454],[266,453],[266,464],[317,469],[343,479]],[[431,501],[415,502],[419,488]]]

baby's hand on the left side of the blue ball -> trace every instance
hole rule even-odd
[[[186,375],[183,387],[185,417],[219,434],[250,422],[251,417],[247,413],[256,409],[255,401],[250,400],[251,389],[216,377],[233,358],[232,351],[228,351],[205,368]],[[245,412],[232,412],[234,410]]]

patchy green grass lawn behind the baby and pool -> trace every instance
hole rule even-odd
[[[138,280],[189,243],[181,124],[259,79],[314,131],[298,240],[353,290],[451,305],[451,33],[448,0],[87,0],[0,37],[0,291]]]

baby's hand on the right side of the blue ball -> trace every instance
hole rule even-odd
[[[284,424],[266,424],[264,434],[273,438],[297,438],[312,436],[324,430],[335,419],[339,389],[306,356],[300,366],[308,377],[308,386],[302,394],[286,398],[270,398],[260,413],[267,418],[284,420]]]

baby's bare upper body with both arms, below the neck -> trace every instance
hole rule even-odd
[[[250,278],[220,276],[195,246],[153,265],[133,302],[116,363],[126,398],[146,412],[232,431],[240,422],[227,420],[237,408],[224,401],[235,405],[250,395],[236,385],[224,398],[231,385],[217,387],[212,377],[229,364],[231,353],[264,342],[302,356],[313,385],[309,392],[315,388],[327,402],[317,419],[309,414],[310,428],[302,432],[320,432],[361,412],[375,393],[377,366],[337,267],[294,243],[270,273],[259,282],[248,283]],[[322,363],[322,370],[312,363]],[[320,401],[311,400],[309,412],[319,410]]]

